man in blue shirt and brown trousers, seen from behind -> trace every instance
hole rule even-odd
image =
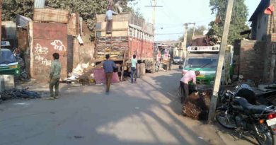
[[[106,93],[109,93],[112,76],[113,76],[113,69],[117,69],[117,66],[115,65],[115,63],[112,60],[110,60],[109,54],[106,54],[105,58],[106,58],[106,60],[105,60],[105,62],[103,62],[103,69],[105,70]]]

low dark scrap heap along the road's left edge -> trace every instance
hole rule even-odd
[[[41,98],[40,93],[37,93],[35,91],[27,91],[24,90],[18,90],[18,89],[11,89],[7,91],[0,91],[0,100],[10,100],[10,99],[35,99],[35,98]]]

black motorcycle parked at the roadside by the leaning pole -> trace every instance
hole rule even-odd
[[[224,91],[217,108],[216,120],[227,129],[250,134],[261,145],[276,145],[276,110],[274,106],[251,105],[248,100]]]

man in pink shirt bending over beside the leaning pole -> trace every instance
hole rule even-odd
[[[183,77],[180,79],[180,86],[184,91],[184,96],[181,98],[181,103],[184,103],[184,99],[188,98],[189,82],[192,81],[193,84],[197,84],[197,76],[200,76],[200,71],[183,71]]]

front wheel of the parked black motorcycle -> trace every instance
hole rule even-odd
[[[219,124],[221,124],[223,127],[227,128],[227,129],[236,128],[236,123],[235,123],[234,117],[232,115],[229,115],[229,121],[230,121],[229,122],[226,118],[224,111],[217,112],[216,120],[217,120],[217,122],[219,122]]]

